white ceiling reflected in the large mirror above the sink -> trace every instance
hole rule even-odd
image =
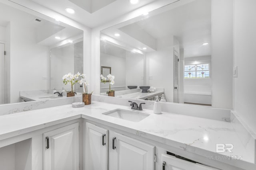
[[[136,45],[134,47],[140,50],[143,46],[147,47],[145,52],[157,50],[157,42],[166,39],[168,41],[168,37],[175,36],[180,48],[184,49],[184,57],[211,55],[211,1],[187,0],[186,4],[182,4],[184,2],[175,2],[176,6],[170,4],[169,7],[159,8],[154,11],[155,14],[150,12],[140,20],[114,25],[102,33]],[[166,10],[168,8],[169,10]],[[116,32],[120,33],[120,37],[114,36]],[[202,45],[203,43],[209,44]]]

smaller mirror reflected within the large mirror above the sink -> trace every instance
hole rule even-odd
[[[102,39],[100,66],[111,68],[109,71],[115,76],[115,83],[111,86],[111,90],[115,90],[115,96],[119,96],[118,91],[128,89],[127,86],[144,85],[144,55],[140,53]],[[107,95],[108,89],[109,84],[100,83],[102,95]]]

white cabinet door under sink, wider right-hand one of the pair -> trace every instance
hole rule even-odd
[[[154,146],[111,131],[109,136],[109,170],[154,170]]]

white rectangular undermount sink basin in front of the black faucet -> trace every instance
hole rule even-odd
[[[114,109],[112,111],[108,111],[106,113],[102,113],[103,115],[108,115],[111,117],[116,117],[119,119],[124,119],[128,121],[133,121],[133,122],[139,122],[145,119],[146,117],[149,116],[147,113],[141,113],[139,111],[129,111],[129,110],[124,110],[124,109]]]

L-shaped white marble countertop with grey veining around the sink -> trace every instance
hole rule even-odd
[[[92,101],[91,105],[73,108],[71,104],[49,107],[0,116],[0,142],[3,139],[56,125],[77,118],[85,118],[164,143],[202,156],[242,156],[242,160],[219,160],[238,167],[253,167],[252,156],[246,153],[244,145],[236,135],[230,122],[191,117],[174,113],[154,114],[152,110],[142,112],[150,114],[140,122],[118,119],[102,113],[113,109],[131,110],[130,106],[120,106]],[[135,111],[135,110],[133,110]],[[216,143],[233,144],[232,153],[216,153]]]

